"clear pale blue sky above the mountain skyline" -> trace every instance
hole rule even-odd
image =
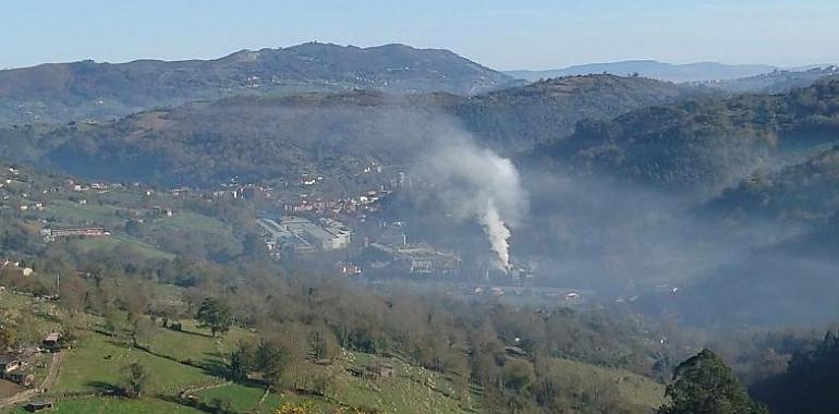
[[[839,0],[0,0],[0,68],[217,58],[318,40],[496,69],[623,59],[839,62]]]

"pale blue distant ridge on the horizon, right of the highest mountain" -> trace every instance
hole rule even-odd
[[[637,74],[659,81],[681,83],[737,80],[776,70],[779,70],[779,68],[766,64],[725,64],[717,62],[672,64],[655,60],[628,60],[622,62],[589,63],[547,71],[508,71],[504,73],[525,81],[609,73],[619,76]]]

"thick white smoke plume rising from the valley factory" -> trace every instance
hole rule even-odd
[[[527,210],[527,195],[515,166],[490,149],[477,147],[467,133],[449,129],[415,172],[433,185],[447,214],[484,227],[498,269],[509,271],[510,229]]]

